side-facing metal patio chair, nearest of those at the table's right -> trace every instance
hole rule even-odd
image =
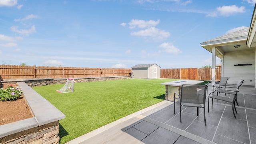
[[[236,118],[236,115],[234,112],[234,110],[236,111],[235,101],[236,101],[238,90],[239,90],[240,86],[242,86],[242,84],[243,84],[243,80],[242,80],[242,82],[241,82],[241,80],[238,80],[238,83],[236,84],[235,91],[234,90],[215,90],[214,92],[211,92],[208,96],[208,112],[209,112],[209,98],[212,98],[212,105],[213,105],[213,99],[222,100],[225,102],[230,102],[232,104],[232,111],[233,111],[234,117]],[[230,94],[230,96],[231,95],[234,95],[234,96],[232,98],[230,98],[230,96],[226,97],[226,96],[220,96],[218,94]],[[236,111],[236,113],[237,113],[237,111]]]

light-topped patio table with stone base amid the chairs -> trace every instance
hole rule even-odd
[[[173,101],[174,93],[180,94],[180,88],[182,84],[200,84],[203,80],[176,80],[172,82],[161,83],[166,87],[165,100]]]

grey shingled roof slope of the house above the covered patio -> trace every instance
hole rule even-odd
[[[244,28],[242,30],[237,30],[235,32],[231,32],[231,33],[226,34],[224,36],[220,36],[218,38],[214,38],[212,40],[208,40],[208,41],[202,42],[201,45],[204,45],[206,43],[230,40],[230,39],[244,39],[244,38],[247,38],[248,32],[249,32],[249,28],[250,27],[247,27],[247,28]]]

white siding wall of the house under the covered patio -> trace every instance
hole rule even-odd
[[[255,49],[225,52],[223,58],[223,75],[230,77],[229,84],[244,80],[244,85],[255,86]],[[252,64],[252,66],[234,66],[235,64]]]

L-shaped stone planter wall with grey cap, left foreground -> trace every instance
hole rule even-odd
[[[25,82],[17,82],[34,117],[0,125],[0,144],[59,144],[66,116]]]

